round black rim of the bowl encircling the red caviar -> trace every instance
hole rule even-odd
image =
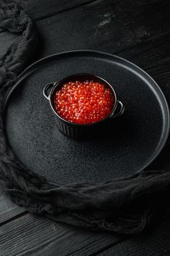
[[[107,84],[109,86],[109,89],[111,89],[111,93],[112,95],[115,97],[115,103],[113,105],[113,108],[111,110],[111,112],[109,113],[109,115],[107,115],[105,118],[102,118],[101,120],[99,121],[96,121],[96,122],[93,122],[93,123],[88,123],[88,124],[77,124],[77,123],[74,123],[74,122],[71,122],[71,121],[68,121],[64,118],[62,118],[58,113],[57,111],[55,110],[55,108],[53,107],[53,94],[56,90],[56,88],[58,86],[61,86],[62,87],[62,83],[64,83],[65,80],[68,80],[69,78],[72,79],[74,78],[74,76],[87,76],[87,79],[88,77],[93,77],[93,79],[95,80],[95,78],[97,78],[98,80],[101,80],[101,83],[104,82],[105,84]],[[52,108],[53,110],[53,113],[55,113],[55,116],[57,116],[58,118],[60,118],[62,121],[64,121],[66,124],[69,124],[69,125],[72,125],[74,127],[92,127],[92,126],[95,126],[96,124],[100,124],[104,121],[106,121],[108,118],[111,118],[112,115],[114,114],[115,112],[115,109],[117,107],[117,94],[115,92],[115,89],[113,89],[112,85],[104,78],[101,78],[100,76],[98,75],[93,75],[93,74],[89,74],[89,73],[74,73],[72,75],[68,75],[66,76],[65,78],[62,78],[61,80],[57,81],[57,82],[54,82],[53,84],[53,88],[51,89],[50,91],[50,94],[49,94],[49,102],[50,102],[50,107]]]

